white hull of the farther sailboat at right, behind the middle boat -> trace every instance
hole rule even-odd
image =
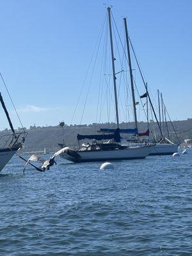
[[[157,143],[150,152],[150,156],[157,155],[172,155],[173,153],[178,151],[177,144],[169,144],[169,143]]]

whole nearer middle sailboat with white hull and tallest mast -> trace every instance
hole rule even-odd
[[[150,154],[152,145],[136,145],[132,147],[132,145],[122,145],[119,125],[119,117],[118,117],[118,97],[116,90],[116,73],[115,73],[115,57],[113,52],[113,35],[111,28],[111,8],[108,7],[108,22],[109,22],[109,37],[110,37],[110,45],[111,45],[111,62],[112,62],[112,70],[113,70],[113,88],[115,95],[115,113],[116,113],[116,129],[114,131],[110,131],[108,134],[102,132],[102,134],[94,134],[94,135],[81,135],[77,134],[78,142],[81,140],[92,140],[91,143],[83,143],[82,147],[79,147],[79,150],[74,150],[72,152],[64,152],[60,156],[64,159],[72,161],[74,163],[79,162],[90,162],[90,161],[109,161],[109,160],[122,160],[122,159],[143,159]],[[127,28],[126,19],[125,22],[125,30]],[[127,34],[127,31],[126,31]],[[128,37],[127,37],[128,39]],[[129,52],[129,44],[127,40],[127,49]],[[131,64],[131,63],[130,63]],[[131,69],[131,68],[130,68]],[[132,72],[132,70],[131,70]],[[132,78],[132,75],[131,75]],[[137,120],[136,120],[136,102],[134,99],[134,88],[132,82],[132,100],[134,105],[134,117],[135,117],[135,125],[136,130]],[[127,129],[127,132],[130,132],[132,129]],[[102,141],[102,142],[99,142]],[[103,142],[106,141],[106,142]],[[75,153],[75,154],[74,154]]]

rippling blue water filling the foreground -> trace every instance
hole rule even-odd
[[[0,255],[192,255],[192,150],[0,173]],[[49,156],[44,156],[45,158]]]

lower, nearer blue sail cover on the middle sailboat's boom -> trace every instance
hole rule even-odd
[[[77,140],[111,140],[114,139],[116,142],[120,142],[120,129],[114,129],[113,134],[95,134],[95,135],[81,135],[77,134]]]

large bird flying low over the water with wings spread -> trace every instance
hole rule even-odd
[[[32,155],[31,157],[29,157],[28,160],[26,160],[26,164],[24,166],[23,172],[26,170],[26,167],[28,166],[28,164],[31,164],[30,163],[31,161],[36,161],[36,162],[42,163],[42,165],[40,167],[34,166],[36,168],[36,170],[38,170],[39,172],[44,172],[45,170],[49,170],[49,168],[51,166],[53,166],[54,164],[57,164],[56,161],[54,160],[54,158],[56,156],[59,156],[62,153],[67,153],[69,156],[76,157],[77,160],[81,158],[81,156],[76,151],[72,150],[71,148],[64,147],[64,148],[61,148],[60,150],[58,150],[57,152],[55,152],[54,155],[47,160],[43,159],[40,156]]]

